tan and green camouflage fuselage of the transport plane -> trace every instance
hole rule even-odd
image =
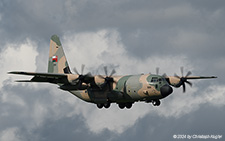
[[[167,81],[159,75],[127,75],[113,76],[116,83],[113,83],[112,91],[89,87],[85,90],[71,90],[70,92],[80,99],[92,103],[126,103],[161,99],[168,96],[162,95],[160,88],[168,85]],[[95,76],[95,82],[100,86],[104,80]],[[172,91],[171,91],[172,93]]]

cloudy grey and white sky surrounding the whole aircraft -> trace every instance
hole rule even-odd
[[[0,140],[172,140],[223,135],[225,2],[222,0],[0,1]],[[174,89],[160,107],[97,109],[56,85],[15,83],[8,71],[47,71],[59,35],[70,67],[117,74],[216,75]]]

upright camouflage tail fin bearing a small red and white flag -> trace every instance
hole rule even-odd
[[[48,73],[71,73],[62,44],[57,35],[50,40]]]

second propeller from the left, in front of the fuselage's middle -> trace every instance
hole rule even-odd
[[[109,91],[112,91],[112,87],[111,87],[111,84],[112,83],[116,83],[116,81],[114,81],[113,79],[113,74],[116,73],[115,69],[112,70],[112,72],[110,73],[110,75],[108,75],[108,69],[107,69],[107,66],[104,66],[104,72],[105,72],[105,77],[102,76],[102,75],[99,75],[99,77],[101,77],[102,79],[105,80],[105,82],[103,84],[101,84],[101,88],[105,88],[106,86],[109,87]]]

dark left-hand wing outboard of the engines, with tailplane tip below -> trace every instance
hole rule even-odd
[[[31,80],[18,80],[16,82],[48,82],[48,83],[54,83],[54,84],[69,83],[66,74],[36,73],[36,72],[21,72],[21,71],[12,71],[8,73],[34,76]]]

